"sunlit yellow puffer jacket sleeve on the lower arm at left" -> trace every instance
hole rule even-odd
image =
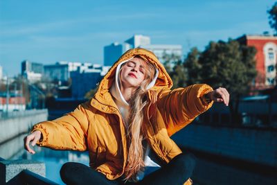
[[[81,104],[60,118],[34,125],[31,132],[39,130],[43,136],[37,144],[55,150],[87,150],[89,119],[86,109],[87,105]]]

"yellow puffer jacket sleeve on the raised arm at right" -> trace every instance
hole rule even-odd
[[[203,97],[210,91],[213,91],[212,87],[206,84],[161,91],[157,106],[170,136],[213,105],[213,101],[207,103]]]

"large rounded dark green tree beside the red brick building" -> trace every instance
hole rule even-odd
[[[231,94],[232,117],[235,122],[240,122],[240,97],[249,94],[257,73],[255,55],[255,48],[241,45],[236,40],[210,42],[202,53],[193,49],[188,54],[185,61],[188,62],[189,82],[204,82],[215,89],[225,87]]]

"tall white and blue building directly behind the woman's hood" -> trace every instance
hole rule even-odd
[[[145,35],[134,35],[133,37],[125,40],[123,44],[113,43],[104,47],[104,65],[111,66],[118,60],[120,55],[125,51],[134,48],[143,48],[152,51],[160,62],[165,62],[163,57],[165,55],[174,55],[175,58],[182,58],[182,46],[181,45],[169,45],[169,44],[151,44],[151,39]],[[173,62],[173,61],[170,61]],[[175,62],[175,61],[174,61]]]

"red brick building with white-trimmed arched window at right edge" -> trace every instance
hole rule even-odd
[[[267,35],[243,35],[241,44],[254,46],[258,71],[253,90],[271,89],[276,85],[277,37]]]

